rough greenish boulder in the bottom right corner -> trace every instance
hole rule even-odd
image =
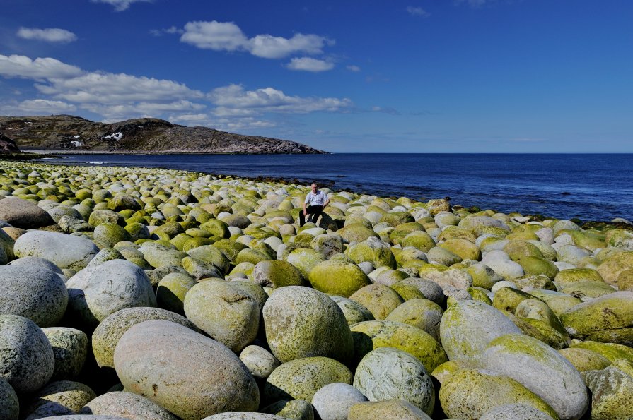
[[[615,366],[583,373],[591,390],[591,419],[633,418],[633,378]]]

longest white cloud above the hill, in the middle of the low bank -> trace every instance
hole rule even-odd
[[[80,103],[120,104],[121,102],[160,102],[202,97],[173,80],[131,76],[125,73],[85,73],[75,78],[50,78],[37,90],[56,98]]]

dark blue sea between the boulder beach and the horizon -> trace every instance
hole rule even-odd
[[[45,162],[57,162],[46,160]],[[66,155],[66,164],[320,181],[335,191],[581,220],[633,219],[633,155]]]

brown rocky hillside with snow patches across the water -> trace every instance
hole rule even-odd
[[[0,116],[0,135],[22,150],[137,153],[326,153],[294,141],[243,136],[162,119],[112,124],[72,115]]]

